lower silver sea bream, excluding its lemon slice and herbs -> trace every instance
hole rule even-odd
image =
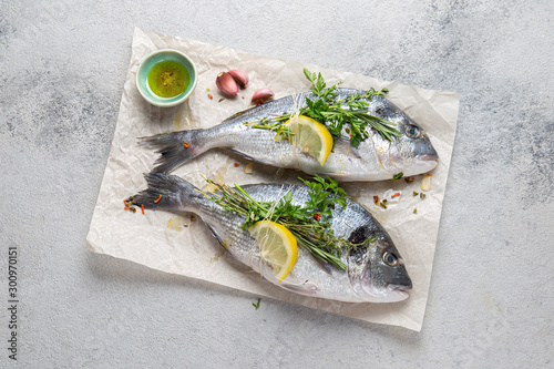
[[[199,215],[213,235],[237,260],[252,267],[267,280],[293,293],[350,303],[393,303],[408,297],[412,283],[391,237],[373,216],[353,201],[332,209],[331,227],[337,237],[355,248],[345,247],[341,262],[346,270],[324,265],[308,250],[298,247],[298,258],[290,274],[278,281],[260,257],[259,247],[248,230],[245,217],[226,212],[192,184],[164,173],[145,175],[147,189],[133,196],[135,205],[146,209],[192,212]],[[278,202],[288,192],[293,205],[309,199],[308,187],[298,185],[245,185],[246,193],[257,202]],[[369,239],[368,239],[369,238]],[[186,245],[183,245],[186,253]]]

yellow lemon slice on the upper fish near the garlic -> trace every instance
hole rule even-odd
[[[288,130],[288,142],[302,153],[314,156],[324,165],[332,150],[332,136],[327,127],[306,115],[298,115],[284,123],[279,131]],[[277,133],[276,140],[281,137]]]

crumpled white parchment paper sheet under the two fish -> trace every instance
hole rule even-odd
[[[166,48],[183,51],[196,63],[198,83],[186,103],[161,109],[150,105],[138,94],[135,73],[143,58],[154,50]],[[220,71],[235,68],[247,71],[250,83],[247,89],[240,91],[240,96],[219,102],[223,95],[215,86],[216,75]],[[236,262],[223,250],[198,217],[193,221],[191,214],[146,211],[146,214],[142,215],[141,212],[123,209],[124,198],[146,187],[143,173],[150,172],[157,158],[153,150],[137,144],[137,137],[216,125],[234,113],[250,107],[250,98],[258,88],[269,86],[276,94],[275,99],[307,91],[309,81],[304,76],[304,68],[321,72],[328,85],[343,81],[343,88],[389,89],[388,99],[427,130],[440,155],[440,164],[432,172],[431,191],[424,199],[412,195],[413,191],[421,192],[422,176],[417,176],[412,183],[384,181],[343,185],[355,201],[375,214],[406,260],[413,289],[404,301],[348,304],[298,296],[281,290]],[[208,93],[213,95],[213,100],[208,98]],[[422,90],[366,75],[256,57],[218,45],[135,29],[117,124],[86,245],[95,253],[125,258],[166,273],[419,331],[428,299],[459,99],[460,95],[452,92]],[[227,184],[249,184],[295,183],[299,174],[259,164],[254,164],[252,174],[245,174],[246,164],[248,161],[238,155],[213,150],[173,174],[201,188],[206,188],[202,175]],[[398,204],[390,204],[387,209],[376,206],[373,195],[381,198],[389,188],[402,191]],[[417,214],[413,213],[414,208]]]

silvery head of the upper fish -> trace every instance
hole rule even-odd
[[[382,166],[391,175],[402,172],[404,176],[433,170],[439,163],[439,154],[427,132],[404,115],[391,121],[397,124],[400,136],[396,136],[393,142],[382,139],[379,134],[373,136]]]

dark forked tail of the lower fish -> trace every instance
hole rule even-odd
[[[194,186],[185,180],[165,173],[144,175],[148,187],[129,198],[132,205],[147,209],[185,209],[191,196],[197,196]]]

